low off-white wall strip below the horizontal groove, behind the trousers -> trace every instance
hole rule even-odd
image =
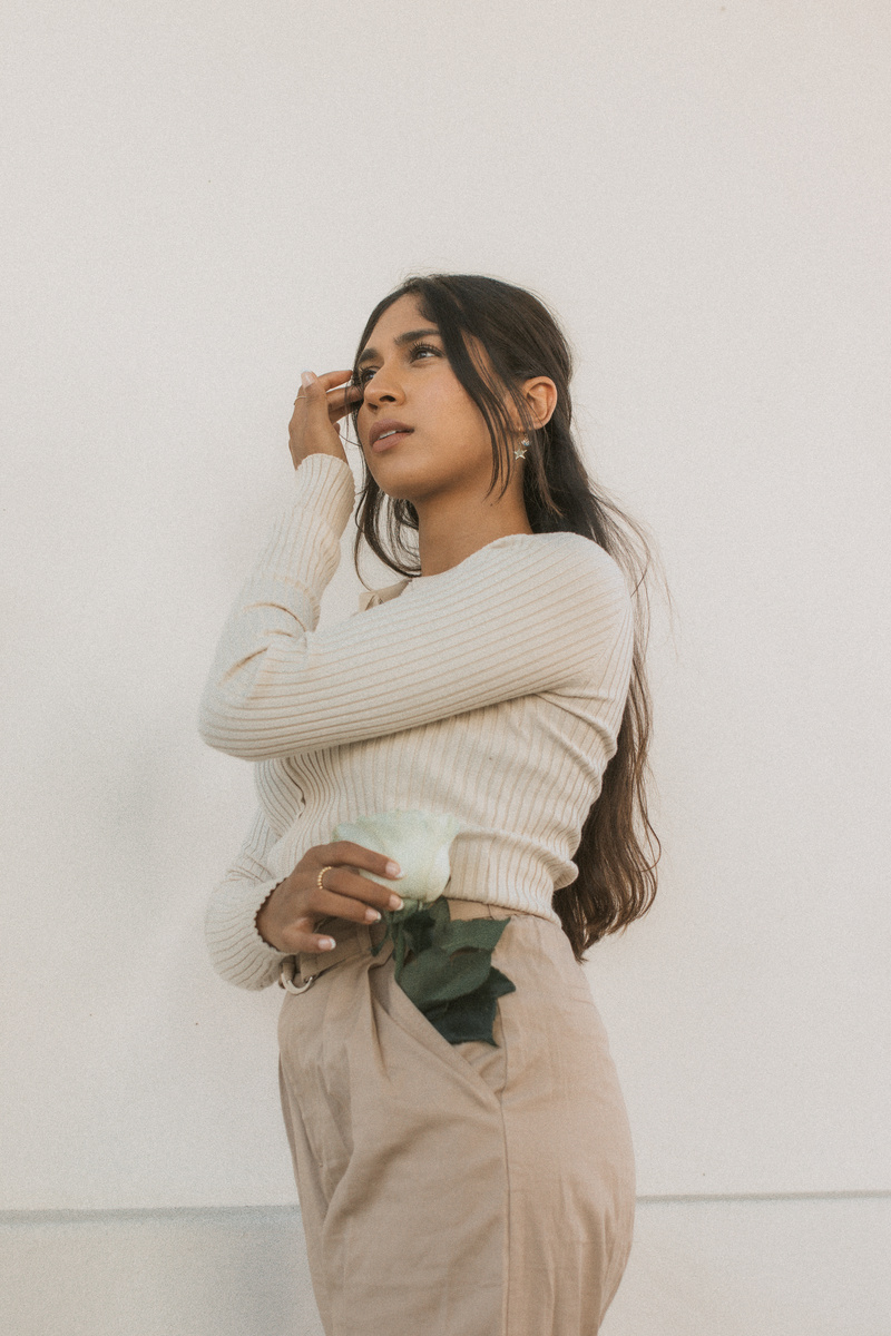
[[[601,1336],[887,1336],[890,1229],[887,1198],[643,1201]],[[0,1248],[4,1336],[322,1336],[295,1208],[25,1212]]]

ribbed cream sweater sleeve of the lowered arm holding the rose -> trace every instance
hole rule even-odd
[[[275,842],[277,835],[260,807],[238,858],[215,887],[204,916],[211,965],[242,989],[269,987],[287,955],[259,935],[255,922],[263,902],[282,880],[264,863]]]

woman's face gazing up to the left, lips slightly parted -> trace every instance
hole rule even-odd
[[[478,341],[470,349],[488,358]],[[383,313],[359,354],[365,390],[357,430],[371,477],[387,496],[419,501],[461,490],[482,497],[492,482],[492,442],[482,413],[449,365],[439,333],[406,293]],[[394,420],[407,434],[374,440]]]

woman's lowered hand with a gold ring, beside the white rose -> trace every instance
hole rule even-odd
[[[319,887],[318,876],[327,868]],[[277,951],[297,955],[298,951],[326,951],[334,945],[330,937],[314,933],[321,918],[353,919],[354,923],[374,923],[381,910],[402,907],[402,899],[386,886],[361,876],[353,868],[363,868],[378,876],[401,876],[397,863],[386,854],[338,840],[334,844],[314,844],[307,850],[290,876],[275,887],[256,915],[256,930]]]

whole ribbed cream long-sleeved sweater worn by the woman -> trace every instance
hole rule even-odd
[[[362,595],[317,631],[355,500],[311,454],[223,628],[199,711],[206,743],[255,763],[259,807],[215,888],[215,969],[273,983],[285,954],[255,915],[341,820],[453,812],[448,895],[560,923],[554,890],[616,752],[633,605],[613,558],[576,533],[514,533],[450,570]]]

